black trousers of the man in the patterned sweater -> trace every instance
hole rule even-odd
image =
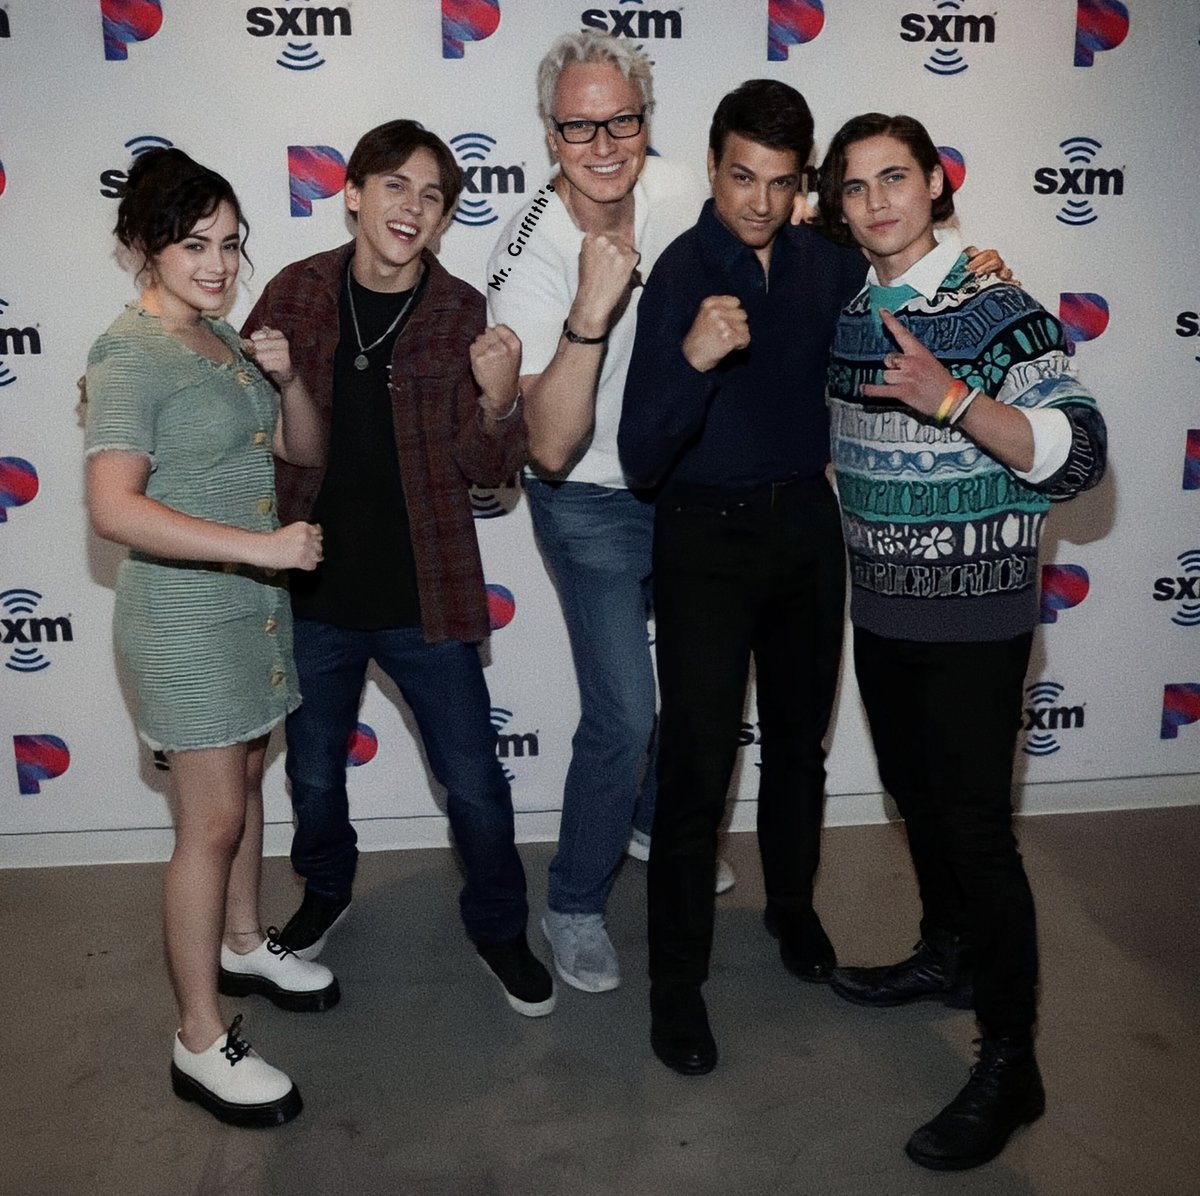
[[[990,643],[854,629],[854,672],[883,787],[908,834],[922,933],[967,933],[990,1035],[1032,1029],[1033,894],[1013,835],[1013,752],[1032,635]]]

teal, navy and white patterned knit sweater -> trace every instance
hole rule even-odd
[[[829,365],[833,462],[851,566],[851,619],[920,641],[1007,639],[1038,620],[1038,540],[1052,500],[1099,481],[1104,421],[1075,378],[1062,327],[1018,287],[976,278],[960,256],[932,300],[901,323],[955,378],[992,398],[1060,408],[1066,463],[1037,486],[955,428],[907,407],[864,401],[895,348],[869,290],[842,312]]]

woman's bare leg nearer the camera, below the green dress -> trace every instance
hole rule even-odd
[[[179,1036],[190,1051],[206,1050],[226,1028],[217,1003],[217,968],[226,891],[244,837],[250,749],[234,744],[172,755],[179,803],[163,920]]]

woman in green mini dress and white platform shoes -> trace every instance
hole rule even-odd
[[[240,1036],[240,1015],[226,1027],[218,991],[287,1009],[338,997],[328,968],[258,921],[266,739],[300,702],[287,570],[322,559],[318,525],[278,525],[272,452],[319,462],[325,432],[282,333],[241,343],[221,319],[245,228],[229,184],[181,150],[136,160],[116,235],[143,289],[88,357],[86,491],[96,534],[130,548],[115,638],[138,733],[176,787],[172,1083],[221,1120],[274,1125],[299,1113],[299,1092]]]

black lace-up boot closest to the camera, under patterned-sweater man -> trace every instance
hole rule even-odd
[[[917,1130],[905,1153],[932,1171],[965,1171],[995,1159],[1021,1125],[1046,1107],[1028,1040],[984,1039],[964,1089]]]

